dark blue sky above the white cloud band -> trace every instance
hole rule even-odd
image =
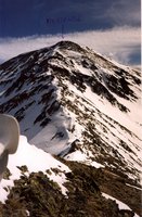
[[[140,0],[0,0],[0,37],[56,34],[60,18],[65,33],[140,26]]]

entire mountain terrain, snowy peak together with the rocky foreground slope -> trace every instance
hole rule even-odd
[[[39,148],[21,136],[0,216],[141,215],[140,98],[138,71],[70,41],[0,65],[0,113]]]

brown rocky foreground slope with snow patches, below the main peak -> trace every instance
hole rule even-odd
[[[107,169],[55,159],[21,136],[0,183],[0,216],[138,217],[141,191],[127,181]]]

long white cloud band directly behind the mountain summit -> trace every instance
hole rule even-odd
[[[131,63],[130,58],[140,53],[141,38],[138,27],[116,27],[107,30],[92,30],[64,35],[64,40],[72,40],[82,46],[92,48],[94,51],[125,64]],[[7,61],[20,53],[52,46],[62,39],[55,36],[33,36],[25,38],[0,39],[0,60]]]

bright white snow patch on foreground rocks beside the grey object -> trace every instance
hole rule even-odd
[[[9,191],[14,186],[14,180],[18,180],[22,175],[17,166],[21,167],[25,165],[28,168],[28,173],[26,173],[27,176],[30,173],[46,173],[48,169],[59,168],[61,170],[60,176],[55,176],[54,173],[52,173],[51,176],[47,176],[54,182],[57,182],[61,187],[62,193],[66,194],[66,189],[63,186],[66,181],[64,174],[70,171],[70,169],[55,159],[51,154],[46,153],[35,145],[30,145],[27,142],[26,137],[21,136],[17,152],[9,157],[8,168],[11,173],[10,180],[2,179],[0,182],[0,201],[2,203],[8,199]]]

